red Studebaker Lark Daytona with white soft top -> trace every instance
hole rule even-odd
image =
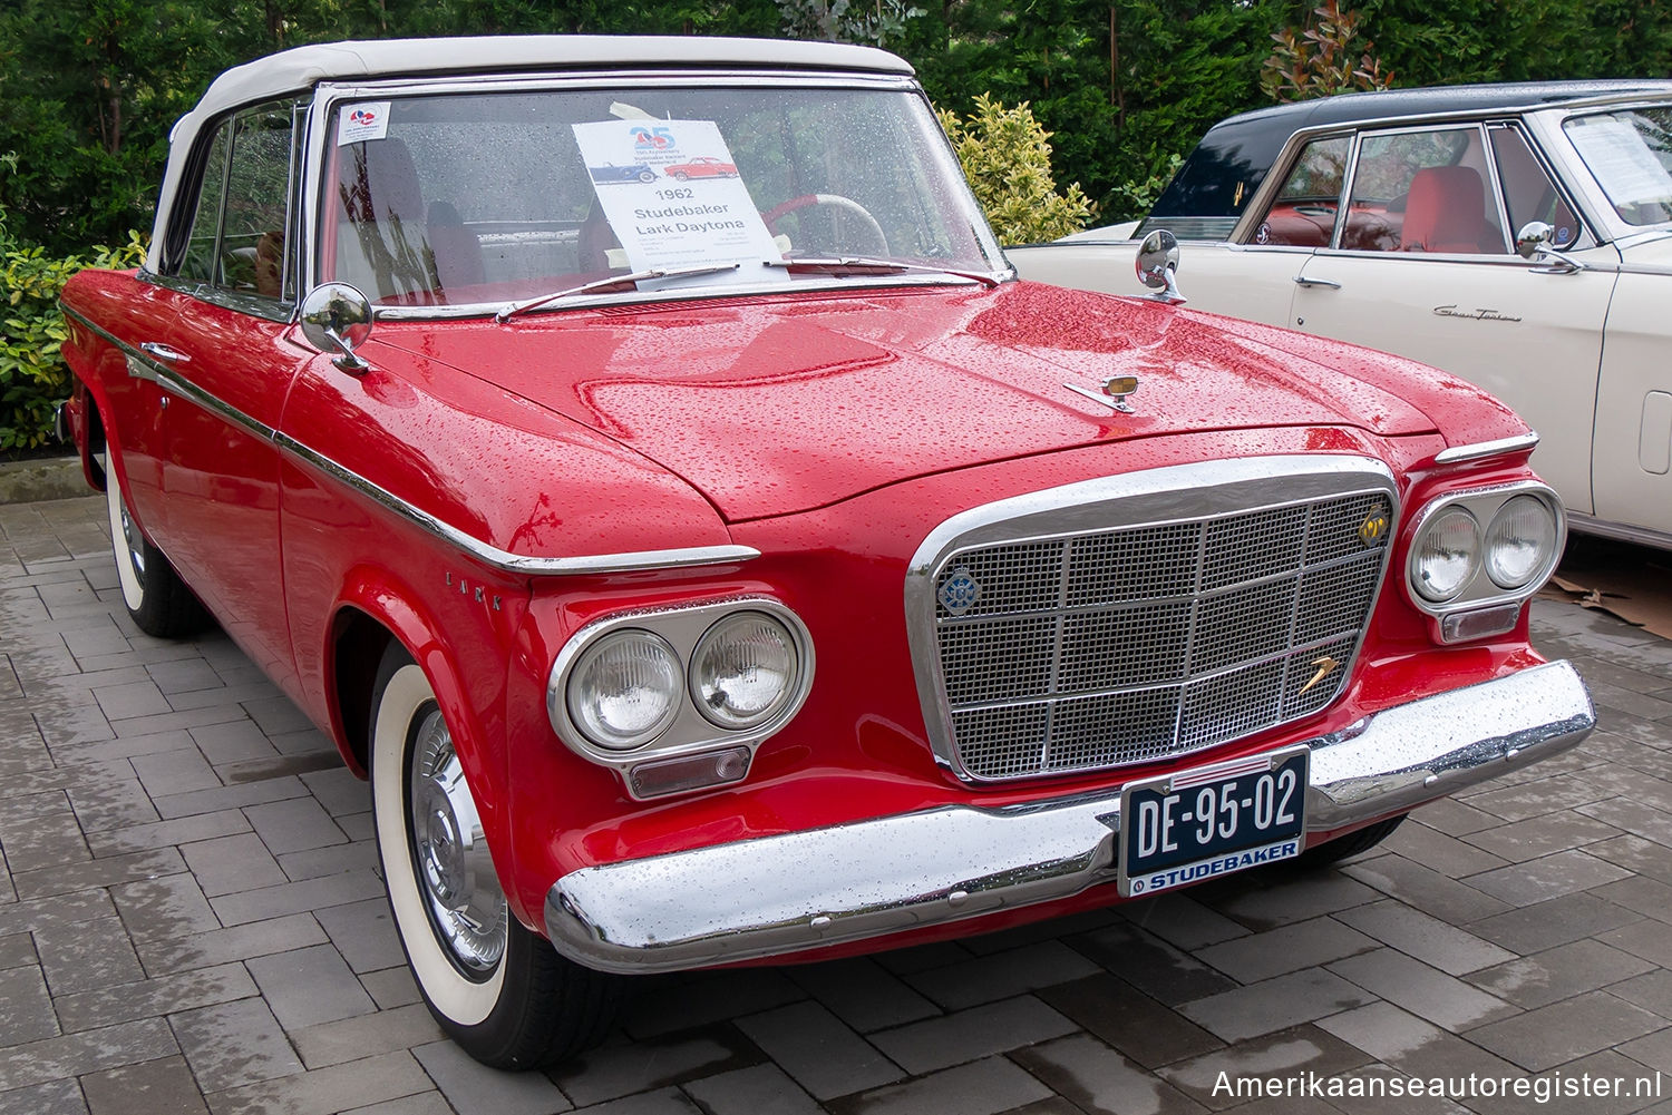
[[[645,120],[746,189],[594,187]],[[487,1063],[597,1040],[614,973],[1328,863],[1593,724],[1527,642],[1563,517],[1515,415],[1018,283],[878,50],[278,53],[64,311],[129,610],[219,620],[371,777]]]

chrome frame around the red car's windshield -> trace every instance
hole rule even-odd
[[[314,87],[314,99],[308,109],[308,150],[306,150],[306,174],[304,182],[314,182],[314,189],[301,191],[301,211],[303,211],[303,237],[308,244],[306,257],[303,261],[303,289],[313,289],[319,284],[319,237],[323,234],[323,221],[326,212],[326,181],[324,165],[328,159],[328,144],[318,140],[316,137],[328,137],[329,129],[326,127],[331,119],[331,112],[341,100],[358,100],[366,97],[376,99],[396,99],[408,95],[435,95],[435,94],[515,94],[515,92],[540,92],[550,89],[622,89],[632,85],[655,84],[662,89],[712,89],[716,85],[736,85],[736,87],[761,87],[761,89],[863,89],[878,92],[903,92],[915,95],[923,107],[928,110],[930,119],[935,119],[935,107],[930,104],[928,95],[916,79],[895,74],[864,74],[864,72],[839,72],[839,70],[741,70],[741,69],[716,69],[716,70],[585,70],[585,72],[550,72],[550,74],[512,74],[512,75],[461,75],[461,77],[423,77],[423,79],[391,79],[391,80],[373,80],[373,82],[329,82],[323,80]],[[938,129],[936,129],[938,130]],[[930,137],[933,140],[933,135]],[[940,132],[940,155],[950,169],[958,169],[958,159],[951,150],[951,142]],[[950,160],[950,162],[948,162]],[[1005,259],[1003,246],[993,234],[991,226],[986,221],[986,214],[981,211],[980,202],[975,201],[975,194],[970,191],[968,184],[963,181],[961,171],[958,177],[950,179],[955,186],[963,184],[961,189],[953,189],[955,204],[960,216],[975,231],[975,239],[980,244],[983,254],[1003,267],[995,269],[991,274],[1000,283],[1012,281],[1017,277],[1015,267]],[[950,279],[938,279],[933,276],[918,276],[915,281],[905,281],[903,276],[878,276],[876,279],[859,281],[859,279],[801,279],[794,284],[754,284],[746,288],[754,294],[774,294],[782,291],[806,291],[806,289],[851,289],[856,286],[873,288],[873,286],[931,286],[946,284]],[[958,281],[963,284],[965,281]],[[721,288],[702,288],[691,298],[721,298],[736,296],[736,291],[722,293]],[[629,304],[632,301],[669,301],[667,293],[650,293],[647,296],[600,296],[599,306],[617,306]],[[503,308],[503,303],[463,306],[458,313],[420,313],[430,308],[398,308],[398,314],[390,314],[390,321],[398,319],[445,319],[445,318],[475,318],[487,313],[493,313]],[[378,318],[385,316],[388,308],[378,309]],[[435,308],[448,309],[448,308]]]

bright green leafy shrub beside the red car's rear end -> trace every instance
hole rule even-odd
[[[82,267],[135,267],[144,254],[144,237],[130,232],[122,247],[55,257],[10,242],[0,226],[0,451],[48,445],[54,408],[70,395],[70,369],[59,353],[69,334],[59,291]]]

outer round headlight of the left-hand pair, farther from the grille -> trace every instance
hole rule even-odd
[[[568,715],[599,747],[625,751],[660,736],[679,714],[684,670],[667,640],[612,632],[587,647],[568,679]]]

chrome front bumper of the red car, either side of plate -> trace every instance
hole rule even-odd
[[[1309,832],[1409,809],[1573,747],[1597,715],[1567,662],[1423,697],[1308,741]],[[1072,898],[1115,881],[1120,791],[874,821],[582,868],[545,899],[560,953],[672,971]]]

